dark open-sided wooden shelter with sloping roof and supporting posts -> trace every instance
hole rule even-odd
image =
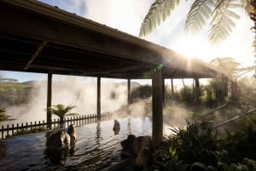
[[[0,22],[0,70],[48,73],[48,106],[52,74],[97,77],[98,114],[101,77],[127,79],[128,97],[131,79],[152,79],[155,146],[163,136],[165,79],[217,73],[201,60],[189,60],[169,48],[35,0],[0,0]]]

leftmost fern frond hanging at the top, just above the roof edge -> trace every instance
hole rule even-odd
[[[139,36],[146,36],[153,31],[156,26],[159,26],[162,21],[166,20],[166,17],[171,15],[172,10],[179,3],[180,0],[156,0],[143,20]]]

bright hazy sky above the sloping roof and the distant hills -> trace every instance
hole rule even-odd
[[[141,23],[154,0],[40,0],[59,9],[78,14],[102,25],[110,26],[133,36],[138,36]],[[253,66],[253,37],[250,28],[253,20],[243,10],[238,10],[240,20],[236,20],[236,29],[223,43],[212,45],[207,41],[209,27],[199,34],[189,35],[184,31],[186,14],[191,6],[190,1],[181,1],[172,15],[147,37],[141,37],[171,48],[179,54],[199,58],[206,62],[217,57],[232,57],[242,67]],[[41,74],[0,71],[0,76],[19,79],[20,82],[33,79],[46,79]]]

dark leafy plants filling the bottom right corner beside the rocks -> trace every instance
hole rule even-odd
[[[209,123],[187,123],[187,128],[172,128],[175,134],[169,135],[165,144],[154,152],[152,167],[146,170],[254,171],[253,124],[242,122],[241,127],[226,135],[213,132]]]

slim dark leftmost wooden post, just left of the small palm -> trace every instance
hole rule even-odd
[[[47,108],[51,107],[51,95],[52,95],[52,71],[48,71],[47,82]],[[47,127],[51,128],[51,111],[47,110]]]

